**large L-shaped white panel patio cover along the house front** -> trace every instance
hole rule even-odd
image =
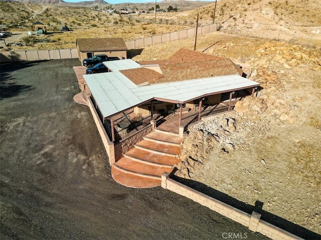
[[[123,61],[123,60],[120,60]],[[117,61],[118,62],[118,61]],[[147,100],[178,103],[206,95],[257,87],[260,84],[239,75],[211,77],[137,87],[120,72],[83,75],[104,118]]]

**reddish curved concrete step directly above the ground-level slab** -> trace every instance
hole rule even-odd
[[[113,166],[122,168],[122,171],[130,171],[134,175],[146,176],[149,178],[160,178],[163,172],[172,172],[172,167],[153,166],[146,163],[133,161],[129,158],[122,157]]]

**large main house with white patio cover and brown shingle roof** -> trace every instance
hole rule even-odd
[[[83,77],[88,105],[113,144],[114,150],[107,150],[110,161],[166,124],[166,131],[183,136],[192,123],[232,111],[260,85],[242,77],[242,69],[230,59],[188,49],[167,60],[103,64],[107,73]]]

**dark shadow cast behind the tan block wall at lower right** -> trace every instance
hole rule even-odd
[[[239,201],[234,197],[231,197],[223,192],[220,192],[214,188],[211,188],[201,182],[182,178],[171,174],[173,180],[178,181],[186,186],[189,186],[199,192],[202,192],[210,197],[213,197],[219,201],[222,201],[232,207],[238,208],[241,211],[252,214],[252,211],[256,211],[261,214],[261,220],[267,221],[283,230],[286,230],[294,235],[302,237],[304,239],[321,239],[321,235],[310,231],[300,225],[290,222],[282,217],[274,215],[268,211],[262,209],[263,202],[256,201],[255,206]]]

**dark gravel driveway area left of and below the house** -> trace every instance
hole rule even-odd
[[[1,239],[267,239],[161,187],[117,184],[88,107],[73,101],[79,65],[0,66]]]

